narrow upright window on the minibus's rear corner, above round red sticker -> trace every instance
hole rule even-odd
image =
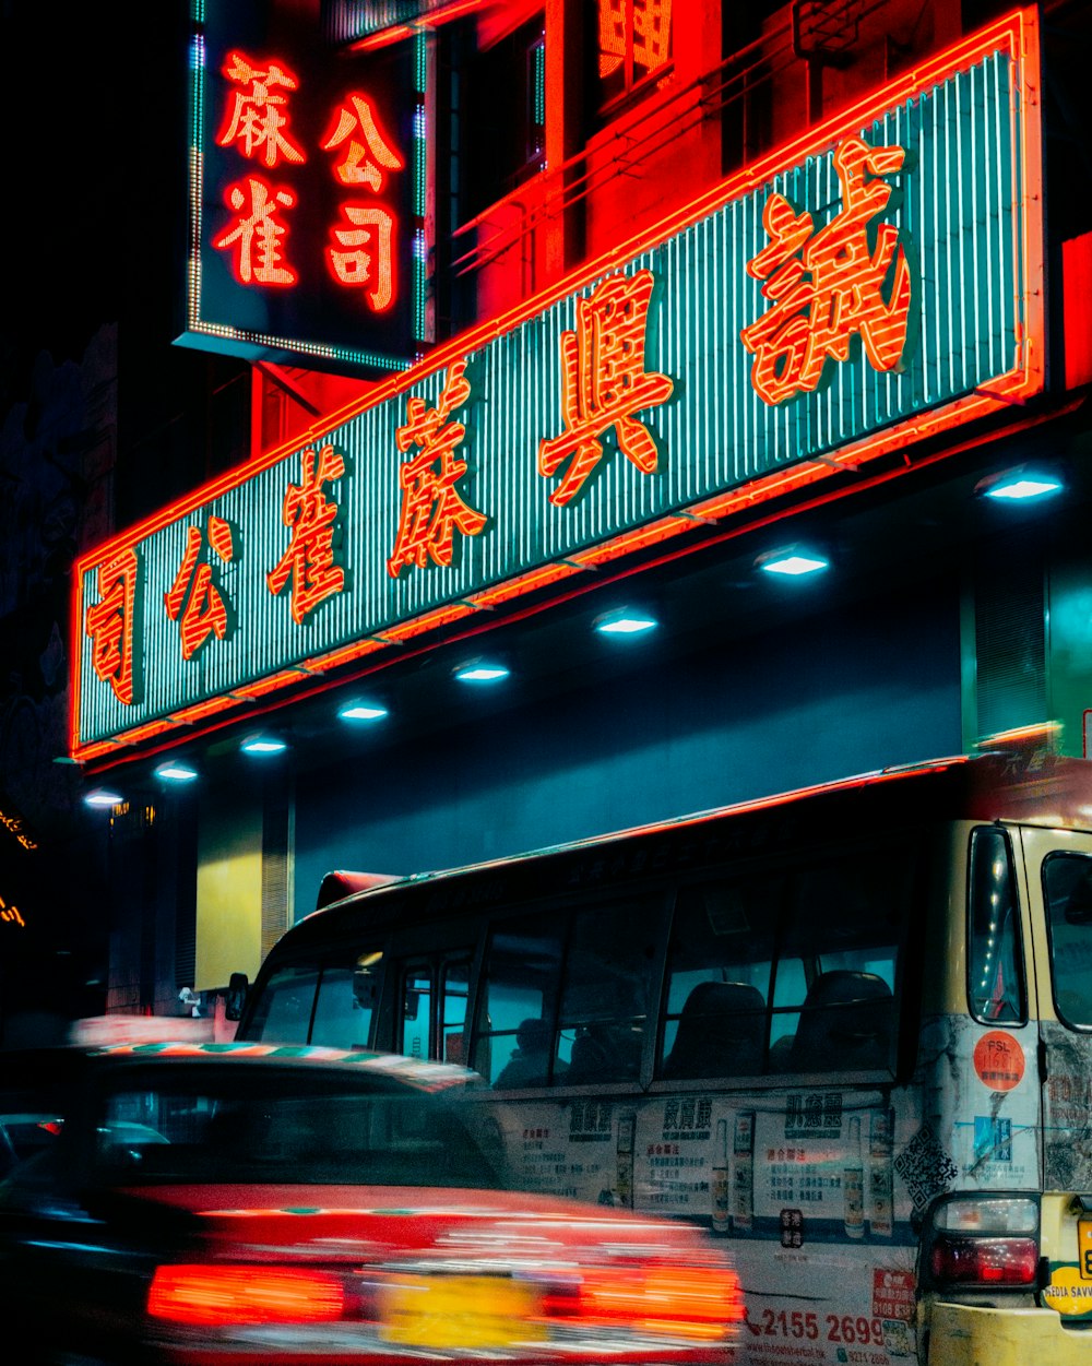
[[[996,826],[970,833],[968,940],[970,1014],[987,1023],[1022,1023],[1028,1004],[1013,851]]]

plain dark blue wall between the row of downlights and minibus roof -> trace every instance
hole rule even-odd
[[[641,646],[638,646],[641,649]],[[497,858],[961,749],[958,590],[924,582],[301,776],[295,915],[335,867]]]

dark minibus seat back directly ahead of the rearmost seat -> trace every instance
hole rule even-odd
[[[686,997],[664,1076],[752,1076],[763,1070],[765,1000],[748,982],[698,982]]]

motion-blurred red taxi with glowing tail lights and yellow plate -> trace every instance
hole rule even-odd
[[[463,1068],[254,1044],[64,1055],[63,1126],[0,1183],[5,1330],[34,1361],[731,1356],[722,1247],[499,1188]]]

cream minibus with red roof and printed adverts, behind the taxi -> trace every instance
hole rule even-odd
[[[331,873],[238,1038],[462,1063],[518,1187],[727,1240],[737,1359],[1092,1363],[1092,764]]]

